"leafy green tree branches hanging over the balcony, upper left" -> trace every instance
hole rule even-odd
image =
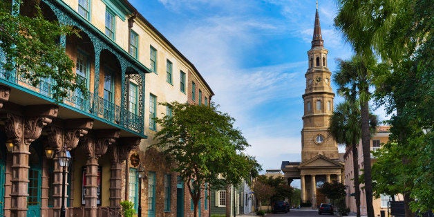
[[[1,68],[29,80],[32,86],[40,84],[41,79],[51,79],[56,102],[77,88],[86,93],[86,86],[73,71],[73,60],[59,45],[62,35],[77,31],[45,19],[40,1],[12,2],[14,6],[10,1],[0,2],[0,57],[4,55]]]

